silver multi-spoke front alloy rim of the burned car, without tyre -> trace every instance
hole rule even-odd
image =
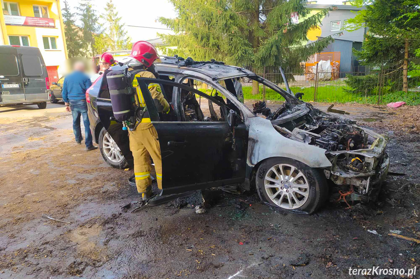
[[[309,197],[305,175],[290,164],[277,164],[267,171],[264,187],[270,199],[284,209],[296,209]]]

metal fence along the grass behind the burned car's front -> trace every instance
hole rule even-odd
[[[404,71],[407,78],[404,80]],[[280,73],[258,74],[285,89]],[[341,78],[340,78],[341,76]],[[388,69],[381,67],[370,73],[318,72],[286,73],[293,93],[303,93],[303,100],[317,102],[358,102],[384,104],[405,101],[410,105],[420,104],[420,67]],[[243,86],[251,86],[243,82]],[[252,96],[245,96],[252,98]],[[264,88],[261,99],[270,99],[270,89]]]

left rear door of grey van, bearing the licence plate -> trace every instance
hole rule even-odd
[[[25,100],[16,48],[0,47],[0,104]]]

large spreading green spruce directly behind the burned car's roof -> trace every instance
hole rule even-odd
[[[328,14],[310,16],[306,0],[170,0],[176,18],[160,17],[175,35],[160,34],[177,49],[167,54],[191,56],[195,60],[222,60],[251,67],[282,66],[298,71],[299,63],[324,49],[332,39],[305,43],[307,32]],[[305,18],[293,23],[291,15]]]

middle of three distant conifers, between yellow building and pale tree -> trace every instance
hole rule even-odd
[[[82,22],[81,30],[86,54],[88,57],[93,57],[97,54],[95,36],[100,33],[97,12],[93,9],[90,0],[80,0],[77,10]]]

